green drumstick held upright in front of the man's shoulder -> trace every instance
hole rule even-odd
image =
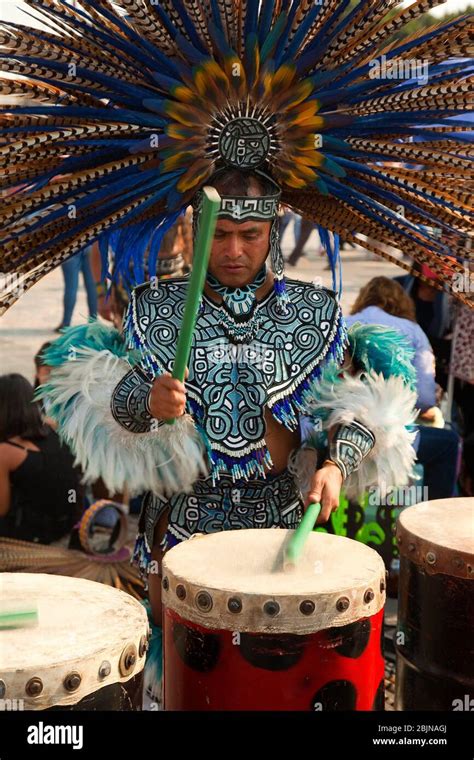
[[[203,206],[199,220],[199,229],[196,235],[196,243],[194,245],[193,268],[186,294],[183,324],[178,337],[176,357],[171,373],[172,377],[181,382],[184,382],[184,375],[191,352],[199,301],[204,289],[212,239],[217,223],[217,212],[221,203],[220,195],[214,187],[204,187],[203,195]],[[165,421],[168,425],[172,425],[174,419]]]

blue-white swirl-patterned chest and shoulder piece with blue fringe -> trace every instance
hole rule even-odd
[[[171,371],[188,279],[144,284],[132,293],[124,329],[148,376]],[[235,479],[263,475],[272,465],[264,407],[296,430],[322,365],[342,360],[345,327],[334,294],[296,280],[288,280],[287,293],[285,315],[273,290],[259,301],[258,331],[244,345],[229,340],[222,307],[202,297],[188,364],[187,411],[209,443],[217,479],[221,472]]]

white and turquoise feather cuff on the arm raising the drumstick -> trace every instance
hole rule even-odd
[[[207,474],[202,442],[192,420],[136,433],[120,425],[111,410],[119,382],[139,361],[118,330],[97,320],[68,328],[44,352],[52,367],[36,398],[48,401],[48,416],[75,455],[83,479],[101,478],[109,493],[127,486],[133,496],[187,492]]]

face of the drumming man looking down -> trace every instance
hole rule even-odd
[[[268,256],[271,222],[219,219],[212,241],[209,271],[230,287],[251,283]]]

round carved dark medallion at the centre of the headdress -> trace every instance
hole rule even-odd
[[[238,169],[255,169],[270,151],[267,128],[250,116],[227,122],[219,136],[219,153],[224,161]]]

